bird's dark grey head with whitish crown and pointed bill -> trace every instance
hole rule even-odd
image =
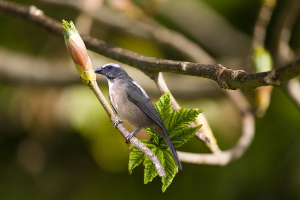
[[[95,73],[102,74],[108,80],[128,77],[128,74],[125,72],[125,70],[123,70],[123,68],[120,65],[115,63],[109,63],[103,65],[102,67],[98,67],[95,70]]]

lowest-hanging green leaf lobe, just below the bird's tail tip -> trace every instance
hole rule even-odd
[[[172,153],[167,150],[163,150],[164,154],[164,169],[167,173],[166,177],[161,177],[161,182],[163,183],[163,186],[161,187],[161,190],[163,192],[166,191],[167,187],[172,183],[176,173],[178,172],[178,167],[172,157]]]

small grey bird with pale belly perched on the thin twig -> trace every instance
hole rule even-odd
[[[105,64],[98,67],[95,73],[104,75],[108,81],[109,99],[114,112],[119,113],[123,119],[137,127],[126,139],[132,138],[142,128],[152,128],[166,141],[178,168],[182,169],[176,149],[161,117],[143,88],[118,64]]]

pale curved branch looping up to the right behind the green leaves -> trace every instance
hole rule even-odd
[[[161,93],[169,91],[161,72],[156,75],[153,75],[153,79],[158,85],[158,88],[161,91]],[[182,162],[224,166],[232,162],[233,160],[236,160],[239,157],[241,157],[244,154],[244,152],[249,148],[253,140],[254,131],[255,131],[254,116],[250,112],[250,104],[248,103],[244,95],[239,91],[226,91],[226,93],[233,100],[234,104],[237,106],[237,108],[241,111],[242,114],[242,133],[236,145],[229,150],[221,151],[216,143],[216,139],[214,138],[214,135],[211,132],[209,124],[206,122],[205,118],[202,118],[202,120],[199,119],[199,122],[197,124],[202,123],[203,124],[202,128],[205,127],[206,130],[203,130],[201,128],[200,131],[198,131],[195,136],[199,140],[208,144],[208,140],[207,140],[208,138],[205,137],[203,132],[205,132],[206,136],[208,136],[207,133],[211,133],[209,135],[209,138],[211,139],[211,145],[208,146],[208,148],[210,149],[212,154],[197,154],[197,153],[178,151],[179,159]],[[177,101],[174,99],[172,95],[171,95],[171,103],[173,109],[180,109],[179,104],[177,103]],[[195,125],[195,124],[191,124],[191,125]]]

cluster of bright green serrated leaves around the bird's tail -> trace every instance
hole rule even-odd
[[[170,94],[170,92],[163,94],[159,98],[158,102],[155,103],[155,107],[162,118],[173,145],[175,147],[180,147],[193,137],[202,126],[187,127],[190,123],[195,121],[196,117],[202,112],[202,110],[182,108],[172,111]],[[178,167],[173,159],[172,153],[168,150],[168,146],[162,137],[156,134],[151,128],[146,128],[145,130],[150,140],[142,139],[140,141],[156,154],[167,173],[167,177],[162,177],[161,179],[163,183],[162,191],[164,192],[172,183],[173,178],[178,172]],[[129,155],[129,173],[131,174],[132,170],[144,160],[144,183],[149,183],[158,175],[155,165],[134,146],[131,145],[130,149],[132,151]]]

